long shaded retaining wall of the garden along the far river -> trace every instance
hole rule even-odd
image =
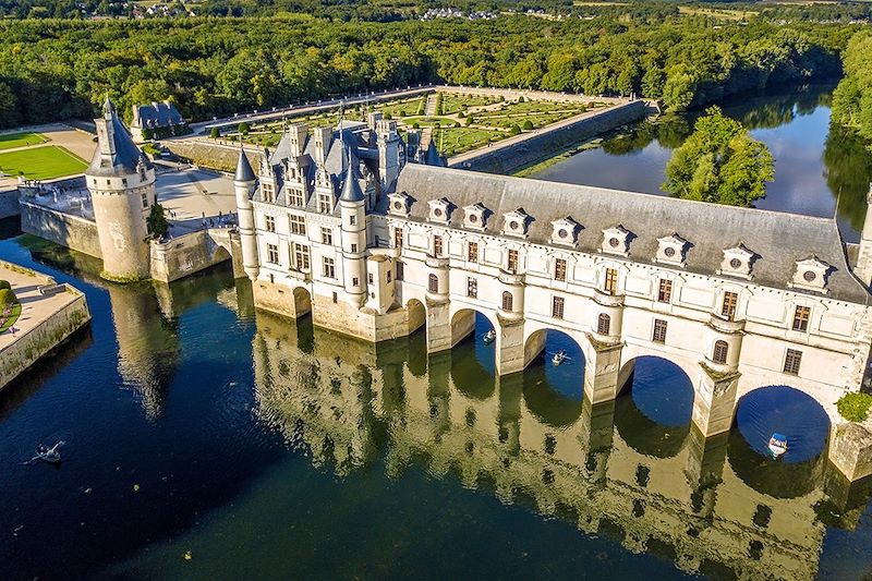
[[[545,128],[531,132],[528,134],[528,138],[512,145],[499,147],[499,144],[495,144],[493,147],[481,149],[477,155],[471,157],[469,155],[458,156],[462,162],[449,160],[449,166],[487,173],[509,173],[572,144],[638,121],[644,116],[644,101],[637,100],[617,105],[574,122],[556,124],[550,129]]]

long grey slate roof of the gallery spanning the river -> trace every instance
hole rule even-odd
[[[751,282],[778,289],[788,288],[798,261],[816,255],[833,266],[827,296],[861,304],[869,299],[848,269],[832,219],[416,164],[402,169],[397,191],[411,196],[410,216],[419,221],[427,220],[427,202],[447,197],[458,208],[449,226],[458,229],[463,225],[461,208],[482,203],[493,211],[486,230],[492,235],[500,235],[504,214],[524,207],[531,216],[526,241],[536,244],[552,245],[550,222],[569,216],[581,225],[577,250],[591,254],[600,252],[603,230],[620,225],[632,233],[629,259],[637,263],[653,264],[657,239],[677,233],[689,242],[686,270],[711,276],[720,267],[724,250],[744,244],[756,255]],[[376,211],[387,210],[385,197]]]

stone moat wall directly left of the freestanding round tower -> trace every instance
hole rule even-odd
[[[21,229],[88,256],[102,258],[97,223],[85,218],[22,199]]]

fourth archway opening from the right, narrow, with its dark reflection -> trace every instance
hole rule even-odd
[[[462,336],[451,349],[451,378],[455,386],[472,398],[491,397],[496,386],[498,339],[491,340],[488,332],[498,331],[484,314],[469,308],[455,313],[451,331],[452,337]]]

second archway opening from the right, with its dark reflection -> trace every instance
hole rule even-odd
[[[615,426],[621,438],[640,453],[676,456],[690,433],[690,377],[671,361],[653,355],[629,361],[620,376],[627,377],[615,402]]]

